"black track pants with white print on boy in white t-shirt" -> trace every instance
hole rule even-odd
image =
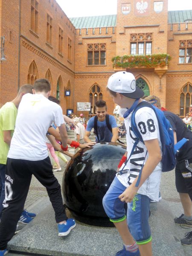
[[[32,175],[46,187],[52,207],[55,211],[56,222],[67,219],[61,197],[61,186],[52,172],[49,157],[40,161],[7,159],[6,164],[6,198],[0,221],[0,250],[7,247],[7,243],[15,233],[17,222],[26,201]]]

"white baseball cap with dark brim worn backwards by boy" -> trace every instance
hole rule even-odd
[[[143,90],[136,86],[134,75],[126,71],[119,71],[110,76],[107,87],[131,99],[140,99],[144,96]]]

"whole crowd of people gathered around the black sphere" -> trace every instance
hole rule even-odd
[[[0,109],[0,256],[8,252],[7,243],[19,230],[18,222],[27,224],[35,217],[35,213],[24,209],[32,175],[47,189],[58,235],[67,236],[76,222],[67,218],[61,187],[53,174],[61,171],[58,157],[67,163],[64,155],[73,156],[68,144],[77,152],[79,148],[99,142],[116,143],[122,137],[126,137],[127,151],[103,198],[105,212],[124,244],[115,255],[152,256],[150,202],[160,199],[160,177],[165,165],[162,124],[155,108],[163,110],[166,122],[172,127],[175,144],[182,138],[187,139],[176,155],[174,153],[175,183],[183,206],[183,214],[174,221],[192,227],[192,131],[189,127],[192,112],[182,120],[163,108],[157,96],[143,100],[144,92],[136,87],[134,75],[125,71],[114,73],[108,80],[107,91],[116,104],[115,116],[109,115],[106,102],[99,100],[96,115],[88,122],[83,113],[79,117],[67,117],[62,113],[60,102],[50,95],[50,88],[47,79],[36,80],[33,87],[23,85],[16,98]],[[66,124],[74,130],[75,140],[68,138]],[[90,140],[92,129],[95,142]],[[48,150],[54,159],[53,165]],[[192,245],[192,232],[181,239],[181,244]]]

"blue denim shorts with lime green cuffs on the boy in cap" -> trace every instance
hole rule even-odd
[[[103,207],[112,222],[120,222],[126,219],[125,202],[119,199],[119,195],[125,189],[126,187],[115,177],[103,198]],[[150,201],[151,199],[148,196],[137,194],[133,201],[127,204],[128,228],[137,244],[146,244],[151,241],[151,230],[148,223]]]

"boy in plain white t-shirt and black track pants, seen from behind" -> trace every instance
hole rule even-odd
[[[75,148],[93,145],[80,145],[68,139],[62,109],[48,99],[51,86],[47,79],[36,80],[33,93],[35,94],[27,93],[22,97],[8,153],[6,197],[0,221],[0,255],[7,253],[7,243],[15,233],[32,175],[47,189],[58,223],[58,235],[67,236],[76,226],[75,220],[68,219],[65,213],[61,186],[53,175],[47,153],[45,138],[52,122],[59,128],[63,151],[67,151],[67,143]]]

